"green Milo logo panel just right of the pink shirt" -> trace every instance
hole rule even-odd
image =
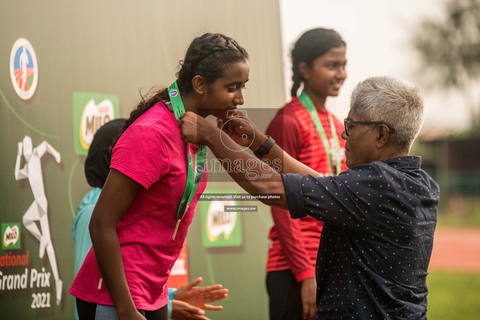
[[[211,193],[231,193],[235,190],[209,190]],[[226,205],[237,205],[237,201],[198,201],[202,211],[202,243],[204,247],[238,247],[242,244],[241,219],[238,212],[224,212]]]

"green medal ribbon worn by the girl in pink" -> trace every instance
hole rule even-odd
[[[168,87],[168,95],[170,97],[170,102],[173,107],[173,113],[175,114],[175,119],[177,122],[180,120],[180,116],[185,113],[185,107],[183,107],[183,102],[181,101],[180,97],[180,90],[178,89],[177,81],[172,83]],[[177,231],[180,225],[180,221],[187,213],[188,207],[190,206],[190,202],[192,202],[193,196],[195,195],[195,191],[198,188],[200,183],[200,179],[202,178],[202,173],[204,172],[205,168],[205,156],[206,156],[206,146],[198,145],[198,150],[195,152],[195,164],[192,163],[192,151],[190,149],[190,143],[188,144],[188,170],[187,170],[187,185],[185,187],[185,191],[183,192],[183,196],[181,197],[180,206],[177,211],[177,225],[175,226],[175,231],[173,232],[172,240],[175,240],[175,236],[177,235]],[[185,206],[185,211],[183,215],[180,217],[181,209],[183,208],[183,204],[187,201]]]

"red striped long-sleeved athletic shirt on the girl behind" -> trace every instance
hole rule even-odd
[[[342,159],[340,171],[345,171],[347,170],[345,140],[340,137],[344,126],[328,111],[317,108],[317,112],[330,142],[335,171],[336,155],[328,114],[334,120]],[[328,154],[313,124],[312,116],[296,97],[278,111],[266,134],[296,160],[325,176],[331,175]],[[292,219],[288,211],[276,207],[272,207],[272,216],[275,225],[268,236],[270,243],[267,272],[290,269],[297,282],[314,278],[315,261],[324,223],[311,216]]]

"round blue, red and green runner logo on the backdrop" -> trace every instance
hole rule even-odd
[[[38,64],[33,47],[25,38],[20,38],[13,44],[10,77],[20,98],[28,100],[34,95],[38,83]]]

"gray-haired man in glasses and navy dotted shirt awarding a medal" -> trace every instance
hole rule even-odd
[[[254,158],[228,138],[244,143],[239,136],[253,136],[242,121],[229,121],[226,133],[186,114],[179,127],[184,140],[207,145],[218,159],[245,163]],[[283,158],[283,174],[250,181],[243,172],[230,175],[249,193],[284,194],[263,202],[292,218],[324,221],[316,319],[426,319],[439,188],[420,169],[420,157],[408,155],[423,122],[420,91],[403,80],[368,78],[354,89],[344,122],[349,168],[338,176],[320,177],[256,129],[250,148],[270,163]]]

